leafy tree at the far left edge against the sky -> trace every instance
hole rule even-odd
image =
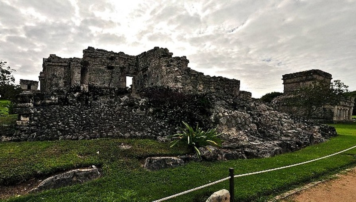
[[[20,86],[15,85],[15,78],[12,73],[15,72],[6,62],[0,59],[0,95],[2,99],[13,100],[15,95],[21,92]]]

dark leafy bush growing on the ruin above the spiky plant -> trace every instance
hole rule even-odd
[[[210,109],[213,97],[210,94],[186,94],[169,87],[151,87],[141,92],[148,98],[148,107],[153,114],[166,120],[171,126],[185,121],[190,125],[203,125],[209,128]]]

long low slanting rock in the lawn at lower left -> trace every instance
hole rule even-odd
[[[99,171],[97,168],[71,170],[43,180],[40,185],[31,190],[31,192],[40,192],[44,190],[74,185],[77,183],[83,183],[94,180],[98,177]]]

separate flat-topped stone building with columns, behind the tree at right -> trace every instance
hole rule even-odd
[[[282,76],[284,92],[283,96],[274,100],[277,108],[286,113],[298,113],[300,109],[295,109],[283,103],[283,98],[293,95],[293,92],[300,87],[313,85],[314,82],[331,84],[332,75],[319,69],[311,69],[303,72],[284,74]],[[342,97],[339,104],[335,106],[325,106],[316,111],[315,117],[324,121],[352,121],[352,110],[354,108],[353,97]]]

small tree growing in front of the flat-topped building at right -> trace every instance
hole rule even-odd
[[[335,80],[331,84],[313,82],[295,90],[292,95],[286,98],[286,103],[289,106],[299,108],[299,115],[312,118],[316,111],[321,110],[322,112],[325,106],[339,104],[344,93],[349,92],[347,88],[349,86],[346,86],[340,80]]]

